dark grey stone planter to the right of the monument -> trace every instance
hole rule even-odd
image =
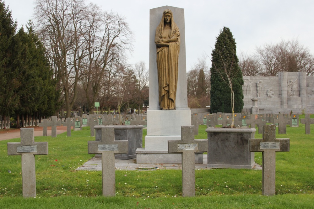
[[[254,152],[250,152],[249,138],[255,128],[207,128],[207,168],[252,169]]]

